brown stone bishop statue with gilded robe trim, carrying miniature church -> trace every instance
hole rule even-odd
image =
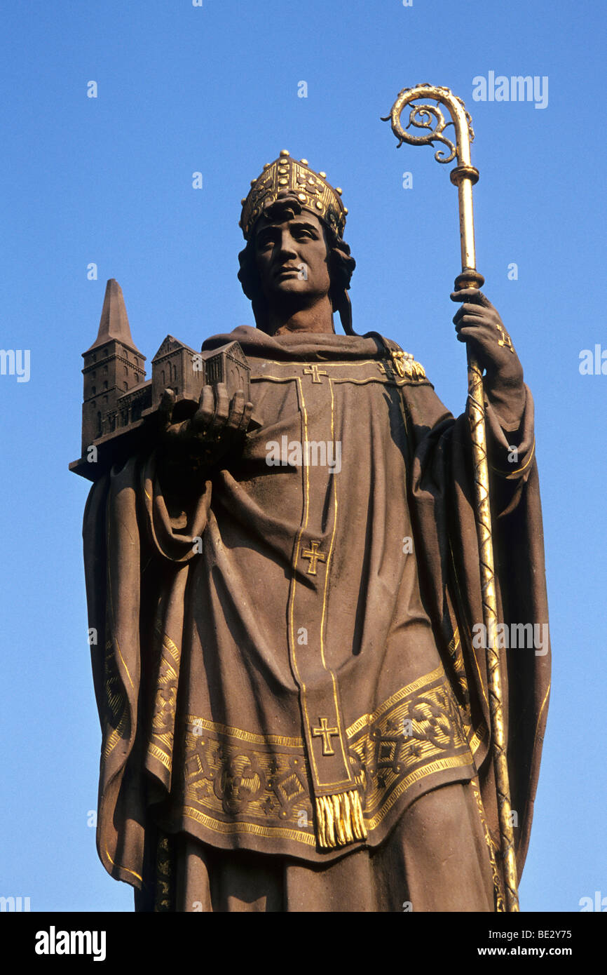
[[[170,335],[146,381],[111,281],[84,354],[97,848],[137,911],[504,910],[470,429],[353,330],[346,215],[283,150],[243,200],[256,327]],[[550,683],[546,641],[508,640],[548,622],[533,403],[497,311],[452,297],[486,370],[520,875]]]

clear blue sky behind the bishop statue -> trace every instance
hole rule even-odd
[[[168,332],[199,348],[253,324],[236,278],[240,200],[287,148],[343,187],[355,329],[413,352],[460,412],[457,195],[431,149],[397,151],[379,121],[401,88],[430,81],[473,114],[477,264],[536,403],[554,673],[521,906],[577,911],[607,895],[607,375],[579,371],[581,350],[607,348],[602,5],[56,0],[5,5],[2,34],[0,345],[29,349],[31,372],[0,376],[0,894],[32,910],[133,905],[87,825],[99,751],[88,484],[67,471],[106,279],[122,285],[148,365]],[[547,106],[474,101],[490,71],[548,77]]]

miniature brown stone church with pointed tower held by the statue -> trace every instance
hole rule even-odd
[[[238,342],[209,355],[167,335],[146,379],[145,356],[133,342],[122,288],[113,278],[105,289],[95,342],[82,355],[82,456],[69,468],[90,481],[148,442],[146,420],[156,414],[165,389],[190,411],[205,383],[230,380],[230,388],[248,391],[247,360]]]

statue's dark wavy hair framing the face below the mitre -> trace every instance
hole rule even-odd
[[[283,197],[279,197],[278,200],[266,207],[260,216],[272,220],[287,220],[292,219],[293,216],[299,216],[302,210],[297,197],[286,191]],[[352,308],[348,290],[357,262],[350,254],[350,248],[346,242],[337,236],[333,227],[324,220],[322,220],[322,227],[328,251],[328,272],[331,283],[328,292],[329,300],[333,311],[339,313],[344,331],[349,335],[354,335],[356,332],[352,329]],[[264,322],[267,317],[268,306],[266,296],[261,289],[261,280],[255,261],[254,227],[249,234],[247,246],[238,255],[238,259],[240,262],[238,279],[252,304],[255,322],[259,327],[260,323]]]

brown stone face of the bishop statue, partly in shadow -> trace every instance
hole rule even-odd
[[[330,288],[328,247],[318,216],[306,211],[284,220],[261,217],[255,229],[255,263],[268,302],[322,297]]]

